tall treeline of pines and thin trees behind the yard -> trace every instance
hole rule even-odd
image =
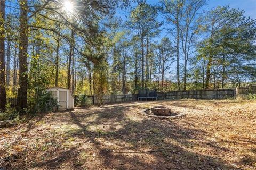
[[[243,10],[205,11],[206,0],[0,2],[1,109],[6,96],[22,110],[52,86],[100,96],[255,82],[256,24]]]

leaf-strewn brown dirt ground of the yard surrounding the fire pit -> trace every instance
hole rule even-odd
[[[155,105],[186,117],[143,113]],[[256,101],[165,100],[43,114],[0,129],[0,167],[256,169]]]

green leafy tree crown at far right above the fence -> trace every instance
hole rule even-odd
[[[206,61],[208,80],[212,75],[222,82],[255,77],[256,22],[243,14],[243,10],[228,6],[209,12],[205,26],[209,36],[198,48],[198,63]]]

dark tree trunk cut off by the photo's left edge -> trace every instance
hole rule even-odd
[[[5,91],[5,61],[4,61],[4,18],[5,0],[0,1],[0,111],[5,110],[6,91]]]

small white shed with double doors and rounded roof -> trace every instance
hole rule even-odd
[[[52,92],[52,96],[57,98],[59,110],[74,108],[74,97],[69,89],[62,87],[52,87],[47,88],[46,90]]]

